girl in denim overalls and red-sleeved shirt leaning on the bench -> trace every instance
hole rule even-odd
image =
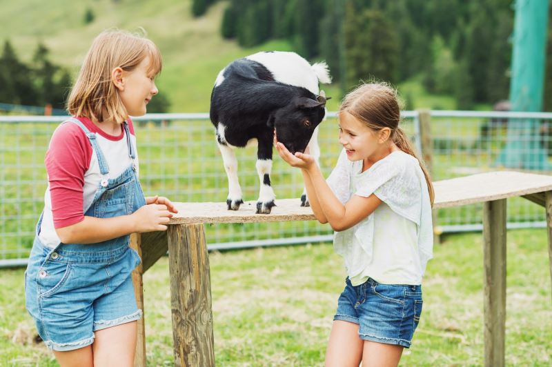
[[[102,32],[55,130],[48,188],[26,275],[26,308],[61,366],[132,366],[137,308],[132,232],[166,230],[177,212],[144,197],[132,119],[157,95],[161,54],[139,34]]]

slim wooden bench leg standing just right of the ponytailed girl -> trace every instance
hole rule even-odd
[[[506,199],[483,206],[485,366],[504,366],[506,330]]]

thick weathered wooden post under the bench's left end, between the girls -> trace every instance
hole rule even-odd
[[[168,253],[175,366],[215,366],[204,225],[169,226]]]

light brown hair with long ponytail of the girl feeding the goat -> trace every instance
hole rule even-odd
[[[412,155],[420,162],[420,167],[426,177],[431,206],[435,199],[431,177],[424,161],[417,155],[408,137],[399,127],[401,121],[397,90],[387,83],[365,83],[345,96],[339,113],[348,112],[372,130],[391,129],[391,139],[397,147]]]

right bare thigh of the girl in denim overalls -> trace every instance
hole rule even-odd
[[[137,330],[137,321],[98,330],[92,344],[94,366],[132,367]]]

